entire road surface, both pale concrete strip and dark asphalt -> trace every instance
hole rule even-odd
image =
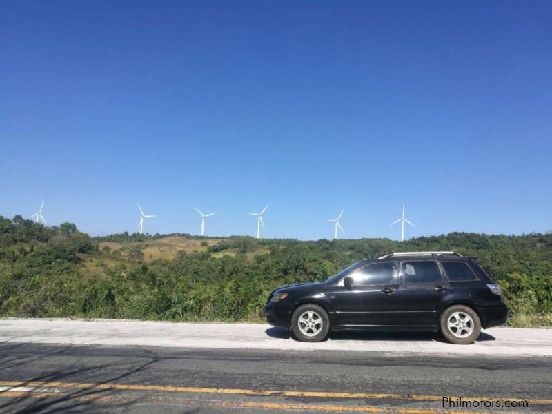
[[[262,324],[0,319],[0,413],[424,414],[462,411],[442,402],[459,396],[552,412],[550,390],[546,329],[490,329],[470,346],[431,333],[304,344]]]

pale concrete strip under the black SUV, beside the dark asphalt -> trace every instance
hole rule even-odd
[[[552,356],[552,329],[491,328],[477,342],[457,346],[433,334],[335,333],[326,342],[295,341],[265,324],[93,322],[68,319],[0,319],[0,342],[170,346],[177,348],[289,351],[381,351],[424,355]]]

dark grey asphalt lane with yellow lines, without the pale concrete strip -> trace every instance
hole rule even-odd
[[[551,374],[534,355],[3,342],[0,413],[422,414],[462,411],[442,404],[457,396],[551,412]],[[529,407],[504,407],[514,399]]]

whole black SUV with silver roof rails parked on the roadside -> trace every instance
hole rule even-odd
[[[306,342],[330,330],[440,331],[471,344],[481,328],[506,323],[500,289],[475,262],[454,252],[392,253],[364,260],[326,282],[270,293],[266,322]]]

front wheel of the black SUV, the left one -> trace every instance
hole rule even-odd
[[[291,331],[299,341],[320,342],[330,331],[330,317],[322,306],[301,305],[291,316]]]

